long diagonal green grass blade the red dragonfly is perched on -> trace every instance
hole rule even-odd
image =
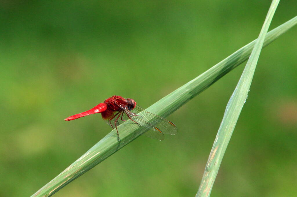
[[[269,43],[277,39],[279,35],[285,33],[287,30],[296,25],[296,23],[297,17],[294,17],[293,19],[280,25],[274,30],[271,30],[265,38],[264,46],[267,46]],[[254,45],[255,41],[242,47],[203,74],[199,75],[187,84],[165,96],[164,98],[150,106],[147,110],[163,117],[168,116],[176,109],[181,107],[183,104],[185,104],[187,101],[192,99],[194,96],[198,95],[206,88],[208,88],[211,84],[219,80],[219,78],[227,74],[230,70],[247,60]],[[125,126],[125,123],[123,123],[121,126]],[[118,151],[123,146],[127,145],[137,136],[133,133],[122,132],[120,137],[121,142],[119,143],[116,140],[116,131],[111,131],[102,140],[95,144],[89,151],[83,154],[83,156],[72,163],[67,169],[61,172],[57,177],[43,186],[32,196],[53,195],[65,185],[105,160],[107,157]]]

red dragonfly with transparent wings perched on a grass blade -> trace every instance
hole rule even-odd
[[[164,140],[163,133],[170,135],[175,135],[177,133],[177,128],[172,122],[146,111],[136,105],[136,102],[133,99],[124,99],[121,96],[112,96],[106,99],[104,103],[100,103],[86,112],[70,116],[65,120],[75,120],[96,113],[101,113],[102,119],[113,129],[116,128],[118,141],[120,141],[119,131],[121,130],[131,133],[136,132],[137,134],[145,135],[157,140]],[[127,120],[130,120],[128,121],[129,126],[119,127],[119,125]],[[140,128],[144,128],[147,131]]]

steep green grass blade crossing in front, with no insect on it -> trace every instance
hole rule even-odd
[[[214,180],[217,176],[217,173],[219,171],[219,167],[225,154],[226,148],[230,141],[238,117],[241,113],[241,109],[244,106],[244,103],[247,99],[247,95],[252,83],[252,79],[255,73],[260,52],[262,50],[264,39],[267,34],[274,12],[277,9],[278,3],[279,0],[272,1],[265,22],[261,29],[260,35],[255,43],[255,47],[252,50],[252,54],[249,60],[247,61],[247,65],[244,68],[244,71],[242,72],[242,75],[230,100],[228,101],[224,117],[219,127],[217,137],[214,141],[214,145],[211,149],[211,153],[209,155],[205,167],[205,172],[203,174],[196,197],[210,196],[211,189],[214,184]]]

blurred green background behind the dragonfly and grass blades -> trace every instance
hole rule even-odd
[[[257,38],[271,1],[1,1],[0,196],[30,196],[111,131],[113,95],[146,108]],[[281,1],[271,28],[296,16]],[[297,195],[297,28],[266,47],[211,196]],[[54,196],[194,196],[241,65]]]

